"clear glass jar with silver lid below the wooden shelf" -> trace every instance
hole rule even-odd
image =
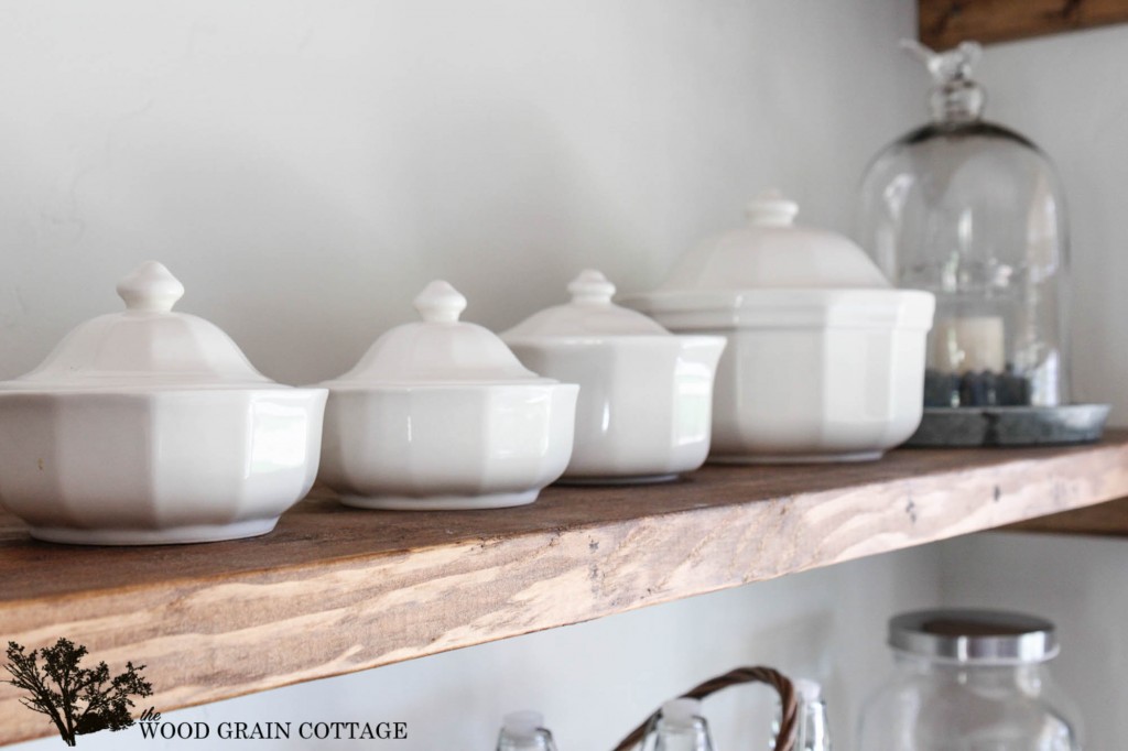
[[[893,677],[870,698],[858,751],[1079,751],[1072,704],[1050,681],[1054,625],[987,610],[925,610],[889,624]]]

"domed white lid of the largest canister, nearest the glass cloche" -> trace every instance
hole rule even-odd
[[[686,254],[655,291],[890,289],[847,238],[795,224],[799,205],[776,191],[748,204],[748,224]]]

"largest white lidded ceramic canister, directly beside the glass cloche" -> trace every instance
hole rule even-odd
[[[723,334],[711,461],[875,459],[920,422],[935,299],[892,289],[846,238],[775,192],[655,291],[625,301],[672,332]]]

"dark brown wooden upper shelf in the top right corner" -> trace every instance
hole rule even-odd
[[[1128,21],[1128,0],[918,0],[917,16],[920,41],[934,50],[1121,21]]]

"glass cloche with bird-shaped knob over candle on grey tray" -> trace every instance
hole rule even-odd
[[[1068,235],[1054,166],[982,120],[978,44],[902,45],[932,74],[932,122],[871,162],[860,240],[898,286],[936,295],[925,418],[910,443],[1095,440],[1107,409],[1069,404]]]

